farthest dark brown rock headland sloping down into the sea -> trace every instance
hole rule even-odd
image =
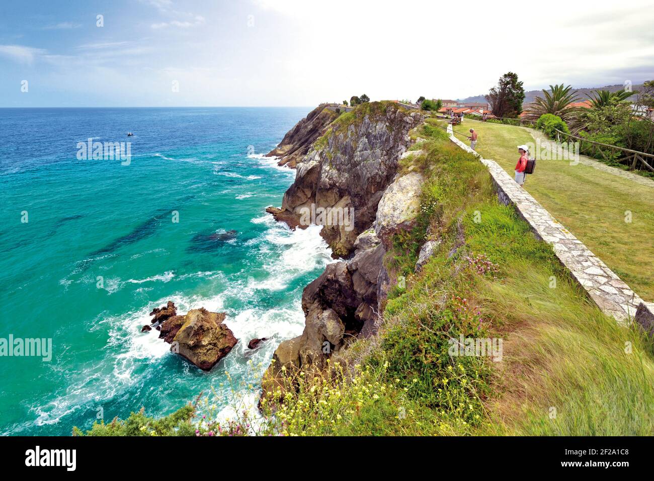
[[[300,120],[279,143],[277,147],[266,154],[267,157],[280,157],[278,165],[295,167],[300,159],[309,151],[311,144],[318,139],[338,114],[326,104],[318,105]]]

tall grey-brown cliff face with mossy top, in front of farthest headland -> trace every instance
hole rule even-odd
[[[407,112],[393,103],[373,103],[332,122],[298,163],[295,182],[284,194],[275,218],[293,228],[312,221],[324,225],[320,235],[330,244],[333,257],[349,257],[354,240],[375,220],[377,205],[411,142],[409,130],[422,120],[420,112]],[[413,176],[404,181],[400,190],[411,188],[414,181],[419,179]],[[351,212],[352,218],[347,219],[351,222],[306,220],[307,212],[319,209],[344,212],[343,219]]]

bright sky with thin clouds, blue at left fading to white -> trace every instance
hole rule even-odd
[[[0,2],[0,107],[313,106],[654,79],[654,3]]]

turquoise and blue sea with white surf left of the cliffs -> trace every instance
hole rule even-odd
[[[173,412],[301,333],[330,252],[264,212],[294,171],[262,154],[309,110],[0,109],[0,338],[52,339],[49,362],[0,357],[1,434]],[[78,160],[88,139],[131,142],[131,162]],[[168,300],[227,312],[239,344],[211,372],[140,332]],[[249,352],[253,337],[272,339]]]

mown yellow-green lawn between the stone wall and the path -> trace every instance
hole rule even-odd
[[[511,176],[516,147],[534,142],[528,129],[467,118],[454,130],[470,128],[479,134],[477,152]],[[581,163],[543,159],[525,189],[632,290],[654,301],[654,189]],[[625,222],[627,211],[632,222]]]

